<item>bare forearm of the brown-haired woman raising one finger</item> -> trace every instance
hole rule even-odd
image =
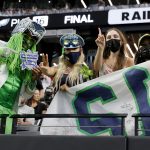
[[[94,59],[94,71],[98,73],[100,68],[102,68],[102,65],[103,65],[103,51],[100,49],[100,47],[98,47]]]

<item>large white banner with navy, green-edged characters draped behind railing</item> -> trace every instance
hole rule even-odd
[[[127,113],[126,133],[134,135],[132,114],[150,113],[149,70],[150,61],[147,61],[71,87],[68,92],[59,91],[47,113]],[[47,118],[43,120],[42,126],[46,127],[41,127],[41,134],[119,135],[120,129],[114,127],[119,124],[120,120],[117,118]],[[106,125],[111,127],[104,127]],[[139,128],[148,127],[150,121],[142,119]],[[150,133],[140,131],[140,134]]]

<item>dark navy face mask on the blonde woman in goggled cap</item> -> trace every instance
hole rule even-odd
[[[71,63],[75,64],[79,57],[81,55],[81,52],[70,52],[68,54],[64,54],[64,57]]]

